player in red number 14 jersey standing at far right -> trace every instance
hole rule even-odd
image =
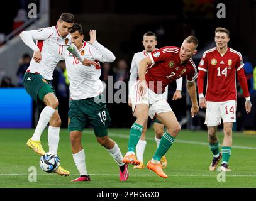
[[[238,81],[245,97],[245,110],[251,111],[250,94],[248,92],[247,80],[243,70],[242,55],[228,48],[229,31],[218,27],[215,30],[216,47],[204,52],[199,63],[198,94],[199,106],[206,108],[205,124],[208,128],[209,148],[213,153],[213,161],[209,166],[210,171],[216,170],[222,158],[221,171],[231,171],[228,161],[231,156],[232,127],[236,121],[236,73]],[[204,77],[208,75],[206,97],[204,97]],[[223,144],[219,150],[217,126],[223,120]]]

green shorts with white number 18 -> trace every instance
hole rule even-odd
[[[70,100],[69,104],[69,132],[83,131],[87,124],[91,124],[97,137],[108,135],[107,128],[111,124],[106,104],[100,101],[102,95],[82,100]]]

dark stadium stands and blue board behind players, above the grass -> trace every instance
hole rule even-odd
[[[26,17],[22,19],[19,13],[23,9],[26,14],[30,9],[28,5],[35,3],[38,12],[36,19]],[[218,18],[216,13],[217,5],[224,3],[226,6],[226,18]],[[97,30],[97,40],[109,48],[116,61],[111,63],[111,70],[106,75],[113,75],[114,82],[123,80],[128,83],[131,58],[135,52],[143,50],[142,35],[146,31],[157,33],[158,45],[162,46],[180,46],[182,40],[188,35],[195,35],[199,40],[198,54],[193,57],[198,65],[203,52],[214,46],[214,29],[217,26],[224,26],[230,30],[231,41],[229,46],[242,53],[244,62],[247,63],[247,79],[252,97],[252,104],[255,105],[255,69],[253,77],[253,67],[256,65],[255,45],[256,45],[256,1],[215,1],[215,0],[193,0],[193,1],[173,1],[171,3],[157,1],[115,1],[115,0],[97,0],[97,1],[29,1],[16,0],[11,6],[4,1],[1,9],[8,8],[8,18],[6,13],[1,12],[1,19],[4,20],[4,26],[0,28],[0,82],[1,87],[8,88],[8,91],[0,89],[3,98],[0,102],[1,109],[1,127],[2,128],[23,128],[35,127],[38,121],[38,111],[33,103],[33,108],[28,110],[21,107],[19,95],[17,98],[11,98],[9,94],[14,87],[22,87],[21,75],[22,68],[20,60],[25,53],[31,57],[31,50],[26,47],[18,37],[18,33],[24,29],[40,28],[40,21],[44,21],[45,26],[54,26],[58,17],[63,12],[74,14],[75,21],[83,24],[85,39],[89,40],[89,30]],[[17,16],[19,17],[17,20]],[[246,14],[245,14],[246,13]],[[18,31],[17,29],[18,28]],[[16,29],[16,32],[15,32]],[[14,32],[13,32],[14,31]],[[10,33],[13,33],[10,35]],[[15,45],[12,45],[15,43]],[[25,58],[23,59],[25,60]],[[121,60],[121,62],[120,62]],[[24,63],[23,63],[24,64]],[[18,70],[21,69],[19,72]],[[57,90],[57,97],[60,100],[59,111],[62,117],[62,128],[67,127],[67,109],[69,102],[68,85],[64,77],[64,62],[60,62],[54,73],[53,85]],[[105,80],[108,86],[108,79],[104,76],[104,65],[102,65],[103,75],[101,80]],[[182,85],[182,99],[172,101],[171,97],[175,91],[175,84],[169,87],[169,102],[182,124],[182,128],[187,129],[206,129],[204,125],[204,111],[201,111],[198,117],[191,119],[189,114],[190,102],[186,93],[186,82],[184,79]],[[6,94],[6,92],[8,92]],[[242,91],[237,85],[238,107],[237,124],[235,130],[255,130],[256,112],[252,107],[249,115],[245,114],[243,106],[244,99]],[[25,95],[26,92],[21,92]],[[6,101],[7,100],[7,101]],[[108,100],[108,97],[107,97]],[[13,101],[13,102],[11,102]],[[31,100],[28,99],[26,106],[30,106]],[[8,107],[6,107],[8,106]],[[8,108],[16,106],[19,109],[13,109],[9,113]],[[108,109],[112,119],[112,128],[129,128],[134,122],[131,115],[131,109],[126,103],[109,103]],[[19,112],[18,112],[19,111]],[[120,114],[120,111],[121,114]],[[8,113],[8,116],[6,114]],[[17,114],[20,113],[20,114]],[[11,123],[20,119],[19,123]],[[9,117],[9,122],[8,121]],[[30,118],[30,122],[23,124],[24,119]],[[7,118],[7,119],[6,119]],[[22,127],[23,125],[23,127]],[[24,126],[26,125],[26,126]],[[150,124],[149,124],[150,125]]]

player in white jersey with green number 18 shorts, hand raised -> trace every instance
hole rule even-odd
[[[90,181],[87,173],[86,155],[82,148],[82,131],[87,124],[94,128],[99,144],[104,146],[113,156],[120,168],[120,181],[128,179],[128,166],[123,163],[118,144],[108,137],[107,128],[111,124],[106,104],[103,100],[103,84],[99,77],[101,67],[99,62],[113,62],[114,54],[96,40],[96,31],[90,30],[90,41],[84,41],[82,25],[74,23],[71,31],[72,43],[77,46],[83,58],[97,62],[84,68],[77,57],[66,52],[64,55],[67,75],[70,81],[71,100],[69,105],[69,132],[72,154],[80,177],[72,182]]]

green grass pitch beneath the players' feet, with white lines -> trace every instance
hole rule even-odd
[[[126,153],[130,129],[109,129],[109,136],[118,143],[123,155]],[[40,156],[26,148],[32,129],[0,129],[0,188],[255,188],[256,136],[233,133],[233,148],[230,158],[231,172],[226,173],[225,182],[218,182],[219,172],[208,170],[212,155],[207,144],[206,131],[182,130],[167,152],[168,166],[164,169],[166,180],[152,171],[133,170],[129,165],[130,177],[119,181],[118,165],[105,148],[100,146],[92,129],[86,129],[82,144],[86,151],[87,171],[91,182],[70,182],[79,173],[71,154],[69,133],[62,129],[58,156],[61,165],[70,171],[69,177],[45,173],[40,169]],[[147,131],[147,147],[144,163],[155,153],[156,143],[153,130]],[[218,131],[222,142],[223,134]],[[47,131],[42,134],[42,145],[48,151]],[[30,166],[37,170],[36,182],[29,182]],[[220,176],[220,175],[219,175]],[[223,178],[221,177],[221,178]]]

